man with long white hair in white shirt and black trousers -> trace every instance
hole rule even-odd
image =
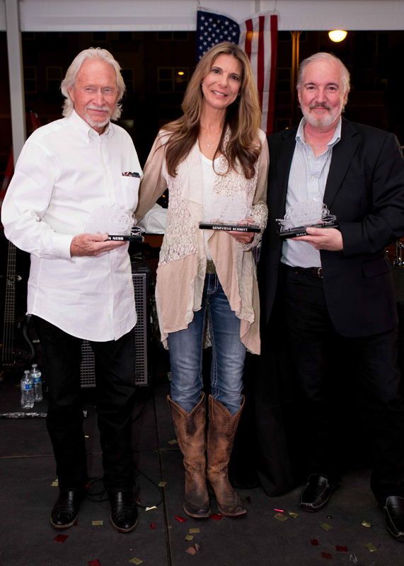
[[[100,48],[82,51],[62,81],[62,120],[26,141],[4,200],[6,237],[31,255],[28,313],[40,330],[49,388],[47,429],[59,478],[51,514],[57,529],[74,524],[87,476],[80,400],[81,342],[96,358],[97,413],[111,522],[127,532],[138,521],[133,495],[136,311],[127,242],[86,225],[104,207],[137,207],[142,174],[120,117],[120,65]],[[138,173],[136,176],[124,173]]]

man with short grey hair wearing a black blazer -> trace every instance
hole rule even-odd
[[[393,134],[344,120],[350,74],[317,53],[301,63],[303,119],[268,138],[268,226],[259,264],[262,319],[282,296],[285,339],[306,399],[311,475],[301,507],[318,511],[342,483],[328,431],[335,337],[354,347],[371,420],[371,490],[388,530],[404,541],[404,408],[398,386],[398,316],[384,248],[404,235],[404,161]],[[339,229],[279,238],[276,219],[306,200],[324,202]],[[265,348],[265,342],[262,344]]]

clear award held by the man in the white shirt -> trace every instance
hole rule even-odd
[[[112,207],[101,207],[94,210],[86,222],[86,232],[107,233],[107,240],[143,242],[144,230],[135,224],[136,219],[130,210],[114,204]]]

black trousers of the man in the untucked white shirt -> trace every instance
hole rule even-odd
[[[35,316],[42,342],[50,434],[61,491],[81,490],[88,479],[80,395],[81,343]],[[131,448],[134,409],[134,329],[108,342],[90,342],[96,360],[96,403],[103,449],[104,485],[109,493],[133,485]]]

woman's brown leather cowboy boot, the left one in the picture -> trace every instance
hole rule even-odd
[[[185,513],[192,517],[208,517],[209,495],[206,485],[206,439],[205,439],[205,398],[202,398],[190,413],[167,396],[173,415],[175,433],[185,467]]]

